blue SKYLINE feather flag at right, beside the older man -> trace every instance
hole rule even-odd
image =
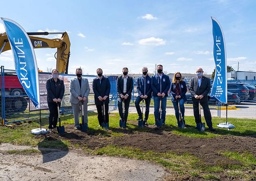
[[[210,97],[215,97],[221,103],[227,104],[227,59],[223,31],[219,21],[212,19],[212,35],[214,40],[213,56],[215,61],[215,76]]]

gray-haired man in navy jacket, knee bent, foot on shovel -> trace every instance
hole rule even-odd
[[[145,117],[143,121],[143,124],[148,125],[148,114],[149,114],[149,107],[150,107],[150,101],[152,97],[152,88],[151,88],[151,77],[148,75],[148,68],[143,67],[142,68],[142,76],[140,76],[137,79],[137,92],[138,96],[135,101],[135,107],[137,110],[137,113],[139,115],[137,121],[142,120],[142,111],[139,107],[139,104],[142,100],[145,100],[146,103],[146,110],[145,110]]]

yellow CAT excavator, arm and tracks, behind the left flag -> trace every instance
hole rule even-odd
[[[47,39],[42,37],[35,37],[35,35],[50,35],[50,34],[62,34],[61,38],[55,39]],[[68,66],[69,66],[69,56],[70,56],[70,41],[67,32],[63,33],[48,33],[48,32],[35,32],[35,33],[27,33],[31,40],[31,43],[34,48],[57,48],[57,52],[55,53],[56,58],[56,69],[58,69],[59,73],[67,74],[68,73]],[[0,33],[0,53],[3,51],[10,50],[10,43],[8,41],[8,37],[6,33]],[[0,76],[1,77],[1,76]],[[8,78],[8,75],[4,76],[4,80]],[[5,84],[7,83],[4,81]],[[17,80],[17,84],[15,81]],[[15,95],[15,97],[5,97],[5,112],[8,113],[18,113],[24,112],[27,109],[27,100],[25,97],[19,96],[25,94],[23,92],[23,88],[19,83],[18,78],[11,79],[12,87],[7,87],[9,90],[9,95]],[[2,83],[0,81],[0,83]],[[2,84],[1,84],[2,85]],[[15,87],[16,86],[16,87]],[[14,88],[13,88],[14,87]],[[6,89],[6,87],[5,87]],[[8,91],[6,91],[8,92]],[[2,102],[2,86],[1,86],[1,95],[0,95],[0,102]],[[0,111],[2,112],[2,106],[0,107]],[[4,124],[2,119],[2,124]]]

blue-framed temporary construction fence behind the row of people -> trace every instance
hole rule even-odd
[[[1,67],[1,120],[3,124],[13,123],[18,121],[27,121],[38,119],[41,117],[48,117],[48,105],[47,105],[47,91],[46,91],[46,80],[52,75],[50,73],[39,72],[39,84],[40,84],[40,106],[41,110],[35,109],[33,103],[26,95],[23,87],[21,86],[15,70],[7,70]],[[70,80],[76,75],[60,74],[59,78],[64,80],[65,84],[65,94],[61,102],[61,113],[69,114],[73,113],[71,108],[71,103],[69,103],[69,84]],[[96,111],[96,106],[94,105],[94,93],[92,90],[92,81],[96,76],[83,75],[87,78],[90,85],[90,93],[88,97],[88,111]],[[118,112],[117,110],[117,88],[116,88],[116,77],[111,78],[110,84],[110,104],[109,111]],[[134,88],[132,92],[131,105],[129,107],[129,113],[137,113],[135,108],[135,99],[138,95],[137,93],[137,80],[133,80]],[[256,84],[255,80],[233,80],[229,81],[232,84]],[[188,82],[187,82],[188,84]],[[233,85],[232,85],[233,86]],[[249,86],[249,85],[248,85]],[[234,87],[233,87],[234,88]],[[226,106],[219,104],[218,101],[210,99],[209,107],[212,113],[212,117],[232,117],[232,118],[244,118],[244,119],[256,119],[256,88],[238,89],[236,91],[237,95],[244,94],[248,91],[248,96],[239,97],[238,99],[232,93],[228,95],[228,110],[226,111]],[[228,91],[231,87],[228,86]],[[235,90],[232,90],[235,92]],[[239,92],[240,91],[240,92]],[[235,94],[236,94],[235,93]],[[247,93],[246,93],[247,94]],[[187,104],[185,104],[185,116],[193,116],[193,107],[191,102],[191,95],[187,93]],[[145,109],[144,109],[145,110]],[[150,104],[150,114],[154,114],[154,101],[151,100]],[[203,114],[203,111],[202,111]],[[173,104],[171,102],[171,97],[167,99],[167,115],[175,115]],[[128,118],[129,119],[129,118]],[[167,120],[168,121],[168,120]]]

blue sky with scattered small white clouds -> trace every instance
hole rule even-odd
[[[71,41],[69,73],[154,73],[162,64],[169,73],[214,70],[212,21],[222,26],[227,65],[256,72],[255,0],[44,0],[6,1],[0,16],[27,32],[67,31]],[[5,32],[0,22],[0,32]],[[53,35],[47,38],[54,38]],[[55,68],[56,49],[35,49],[40,70]],[[12,51],[0,65],[14,69]]]

